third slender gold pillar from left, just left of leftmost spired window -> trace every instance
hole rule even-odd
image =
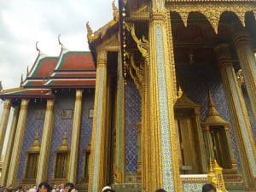
[[[9,165],[9,175],[7,179],[7,185],[15,185],[17,172],[19,168],[20,163],[20,151],[21,151],[21,144],[23,141],[23,135],[26,125],[26,114],[27,114],[27,106],[28,106],[29,100],[22,99],[20,104],[20,114],[19,119],[17,123],[17,130],[15,134],[15,143],[14,148],[12,151],[12,157],[10,160]]]

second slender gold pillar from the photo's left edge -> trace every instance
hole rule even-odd
[[[1,186],[6,186],[7,176],[9,173],[9,163],[11,160],[12,150],[15,142],[15,132],[17,128],[18,114],[19,114],[19,108],[15,107],[12,124],[9,131],[9,138],[8,138],[9,140],[8,140],[7,148],[4,154],[3,170],[2,170],[1,183],[0,183]]]

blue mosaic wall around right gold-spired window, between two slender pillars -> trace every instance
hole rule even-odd
[[[53,135],[51,140],[51,148],[49,154],[49,169],[48,169],[48,178],[50,178],[53,174],[53,166],[54,166],[54,158],[55,158],[55,150],[59,148],[62,142],[62,138],[65,132],[65,126],[67,125],[67,143],[70,147],[71,137],[72,137],[72,125],[73,125],[73,117],[72,119],[62,119],[61,111],[62,109],[72,109],[75,102],[74,93],[69,93],[66,95],[56,96],[55,98],[55,123],[53,126]]]

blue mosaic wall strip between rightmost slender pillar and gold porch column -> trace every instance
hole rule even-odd
[[[78,166],[78,181],[83,176],[83,150],[90,143],[91,129],[92,129],[92,121],[90,119],[89,109],[93,108],[94,105],[94,90],[84,90],[83,96],[83,108],[82,108],[82,121],[81,121],[81,130],[80,130],[80,138],[79,138],[79,166]]]

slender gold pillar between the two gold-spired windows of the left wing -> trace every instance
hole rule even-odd
[[[48,99],[46,104],[46,112],[44,117],[44,129],[41,141],[40,155],[38,160],[38,175],[37,184],[47,180],[48,166],[49,166],[49,151],[52,137],[52,122],[54,100]]]

